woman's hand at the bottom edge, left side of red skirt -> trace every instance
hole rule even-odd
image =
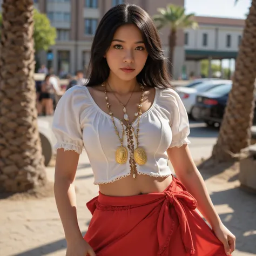
[[[92,247],[82,238],[77,241],[68,242],[66,256],[96,256]]]

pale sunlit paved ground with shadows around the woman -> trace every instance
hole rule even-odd
[[[47,168],[47,174],[53,181],[54,168]],[[233,255],[256,255],[256,196],[238,188],[235,172],[204,174],[204,178],[221,219],[237,236],[237,251]],[[98,192],[85,152],[79,160],[76,187],[79,226],[85,233],[91,218],[85,204]],[[24,201],[4,199],[0,200],[0,209],[0,256],[65,255],[66,242],[53,197]]]

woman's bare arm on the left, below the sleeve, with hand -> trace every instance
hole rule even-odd
[[[95,256],[82,237],[77,220],[75,175],[79,154],[75,151],[57,150],[54,192],[60,219],[68,244],[66,256]]]

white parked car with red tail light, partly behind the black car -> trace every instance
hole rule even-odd
[[[194,85],[193,87],[176,87],[176,91],[178,92],[185,109],[188,114],[191,114],[193,117],[193,107],[194,104],[196,104],[196,97],[198,93],[206,92],[213,87],[223,85],[223,84],[231,84],[231,80],[207,80],[204,83],[200,83],[197,85]]]

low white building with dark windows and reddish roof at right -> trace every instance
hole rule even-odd
[[[208,59],[210,63],[220,60],[222,67],[223,60],[231,62],[237,57],[245,20],[197,16],[196,21],[199,24],[197,30],[184,30],[184,66],[187,74],[200,76],[200,60]],[[211,65],[208,76],[212,76]]]

